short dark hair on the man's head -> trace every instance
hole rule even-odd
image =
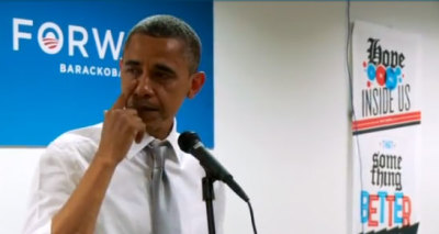
[[[139,21],[128,33],[124,49],[134,34],[154,37],[177,38],[187,46],[189,71],[196,73],[201,59],[201,41],[195,31],[184,21],[172,15],[158,14]]]

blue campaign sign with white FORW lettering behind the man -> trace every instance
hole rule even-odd
[[[172,14],[200,35],[207,80],[178,113],[178,130],[213,147],[212,1],[0,1],[0,146],[46,146],[103,120],[120,94],[119,58],[131,27]]]

